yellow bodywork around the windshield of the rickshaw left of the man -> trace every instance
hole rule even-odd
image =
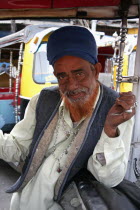
[[[48,41],[48,37],[49,35],[46,35],[41,43]],[[35,53],[30,52],[31,43],[32,40],[30,40],[28,43],[25,43],[23,68],[22,68],[21,83],[20,83],[20,96],[21,98],[25,99],[30,99],[45,87],[57,85],[57,84],[51,84],[51,82],[39,84],[34,81],[33,68],[34,68]],[[44,71],[43,73],[45,74],[47,69],[44,69],[43,71]]]

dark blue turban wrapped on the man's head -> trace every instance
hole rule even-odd
[[[80,26],[65,26],[54,31],[47,44],[49,63],[54,65],[65,55],[80,57],[92,64],[97,63],[97,46],[92,33]]]

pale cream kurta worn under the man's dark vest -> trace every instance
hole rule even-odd
[[[3,135],[2,131],[0,132],[0,158],[10,162],[25,159],[28,154],[29,145],[31,144],[36,124],[35,108],[37,99],[38,96],[32,98],[26,109],[25,118],[14,127],[10,134]],[[59,108],[59,113],[62,107],[63,103]],[[65,129],[67,130],[77,130],[84,120],[82,119],[76,126],[73,126],[69,112],[65,108],[63,117],[65,120]],[[24,187],[22,192],[13,194],[10,210],[61,209],[59,204],[53,200],[55,184],[60,173],[57,172],[59,167],[58,160],[54,158],[51,151],[57,141],[55,156],[58,158],[62,156],[64,149],[69,146],[73,136],[70,135],[69,138],[66,138],[62,120],[60,120],[59,125],[57,123],[57,126],[59,126],[59,132],[58,134],[54,132],[49,149],[46,151],[46,158],[43,164],[32,180]],[[93,155],[89,158],[87,168],[97,180],[107,186],[112,187],[117,185],[125,176],[132,128],[133,120],[131,119],[119,126],[119,137],[109,138],[103,131],[101,138],[94,149]],[[100,159],[97,158],[98,154],[104,155],[104,165],[101,164]],[[63,167],[66,158],[67,155],[63,154],[60,159],[61,167]]]

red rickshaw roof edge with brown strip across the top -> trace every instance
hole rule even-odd
[[[139,0],[5,0],[0,4],[0,19],[8,18],[119,18],[121,6],[128,17],[138,17]]]

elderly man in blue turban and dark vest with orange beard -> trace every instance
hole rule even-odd
[[[8,190],[14,192],[11,210],[63,209],[64,187],[82,168],[109,187],[127,169],[135,97],[98,82],[101,64],[91,32],[62,27],[50,35],[47,53],[59,90],[42,90],[11,133],[0,133],[0,158],[26,159]]]

